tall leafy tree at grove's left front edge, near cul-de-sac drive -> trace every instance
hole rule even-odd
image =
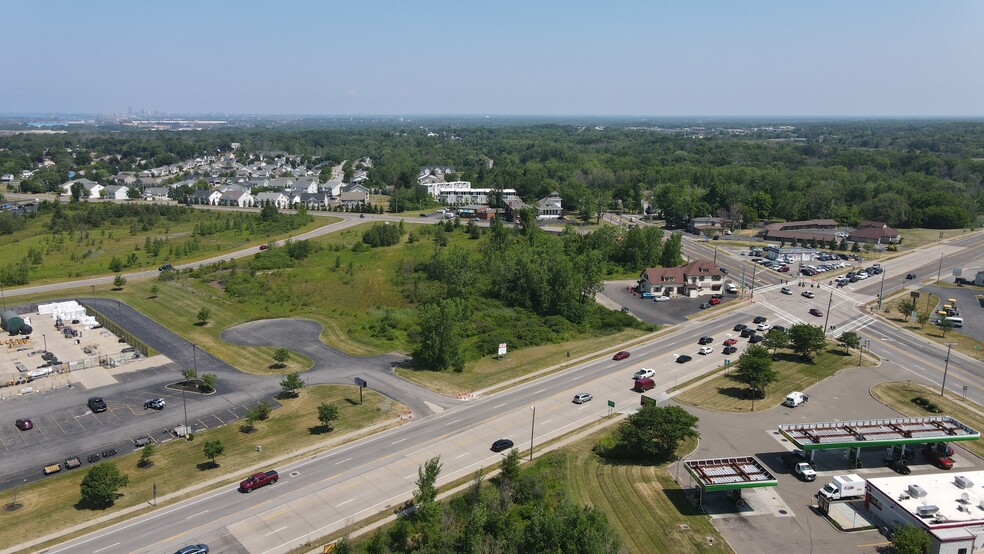
[[[424,304],[418,311],[414,339],[414,363],[419,367],[445,371],[464,369],[462,335],[466,313],[465,302],[446,298]]]

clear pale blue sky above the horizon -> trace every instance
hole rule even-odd
[[[4,0],[0,113],[984,116],[984,2]]]

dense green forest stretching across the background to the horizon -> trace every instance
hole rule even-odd
[[[877,219],[897,227],[976,224],[984,201],[984,123],[974,121],[652,122],[610,126],[444,121],[366,127],[91,131],[0,137],[0,174],[41,169],[22,186],[54,190],[68,171],[104,180],[206,153],[286,151],[302,163],[369,157],[369,185],[412,208],[420,166],[453,165],[476,187],[527,200],[557,191],[571,212],[640,211],[668,226],[689,217]]]

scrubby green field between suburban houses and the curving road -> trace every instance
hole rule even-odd
[[[76,277],[109,275],[110,261],[114,258],[126,260],[135,255],[134,262],[123,272],[157,269],[164,263],[179,264],[205,259],[222,252],[260,245],[274,239],[300,235],[324,225],[339,221],[333,217],[316,217],[308,225],[291,233],[268,233],[258,227],[241,226],[223,229],[214,234],[193,236],[199,224],[221,224],[228,220],[242,220],[246,216],[256,218],[256,214],[238,212],[215,212],[189,210],[185,220],[180,222],[158,218],[147,227],[135,223],[135,218],[125,218],[117,222],[104,222],[98,228],[87,228],[73,233],[51,233],[47,224],[51,216],[42,215],[28,219],[27,226],[12,235],[0,235],[0,250],[3,251],[3,265],[32,259],[28,271],[31,283],[38,281],[60,282]],[[237,219],[238,218],[238,219]],[[146,241],[159,239],[165,241],[157,255],[145,250]],[[193,251],[184,253],[186,245],[193,243]],[[30,255],[36,252],[36,258]],[[34,263],[40,261],[40,263]]]

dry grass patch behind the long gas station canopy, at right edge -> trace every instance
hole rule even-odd
[[[878,383],[871,387],[871,396],[889,408],[906,417],[926,417],[934,415],[950,416],[972,429],[980,431],[984,428],[984,407],[957,397],[952,392],[948,396],[940,396],[940,391],[924,385],[915,385],[890,381]],[[922,396],[942,409],[934,414],[912,403],[912,399]],[[984,442],[964,441],[962,448],[972,452],[978,458],[984,459]]]

